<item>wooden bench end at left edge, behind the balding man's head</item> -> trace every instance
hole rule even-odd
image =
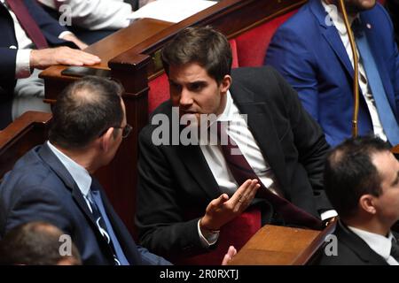
[[[29,149],[47,140],[50,113],[27,111],[0,131],[0,179]]]

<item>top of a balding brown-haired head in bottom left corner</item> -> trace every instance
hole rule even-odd
[[[0,241],[0,264],[80,265],[79,251],[56,226],[43,221],[13,227]],[[70,242],[66,242],[70,241]],[[66,249],[62,245],[66,244]]]

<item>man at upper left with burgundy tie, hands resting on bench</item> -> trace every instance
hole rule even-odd
[[[24,111],[50,111],[39,71],[50,65],[93,65],[97,56],[33,0],[0,0],[0,129]],[[61,47],[62,46],[62,47]]]

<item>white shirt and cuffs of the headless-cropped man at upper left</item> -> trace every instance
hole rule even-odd
[[[30,52],[35,49],[35,44],[32,42],[25,32],[25,30],[20,26],[20,21],[15,16],[15,13],[10,9],[8,4],[4,0],[0,0],[0,4],[8,10],[12,16],[12,21],[14,23],[15,38],[17,39],[17,46],[10,46],[10,49],[18,49],[17,58],[15,62],[15,79],[27,78],[30,76]],[[59,38],[63,38],[65,34],[72,34],[71,32],[65,31],[59,34]]]

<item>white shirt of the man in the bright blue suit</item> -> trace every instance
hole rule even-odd
[[[345,50],[347,50],[348,57],[350,60],[350,63],[352,64],[352,67],[354,66],[353,62],[353,54],[352,54],[352,49],[350,48],[350,42],[349,42],[349,36],[347,32],[347,28],[345,27],[345,23],[343,19],[340,16],[340,13],[338,12],[337,8],[335,5],[327,5],[325,4],[324,1],[322,1],[323,6],[325,7],[325,11],[329,14],[329,16],[332,19],[332,23],[338,30],[338,34],[340,34],[340,40],[342,41]],[[349,19],[349,24],[351,25],[354,21],[353,17],[348,17]],[[359,56],[359,52],[357,51],[357,56]],[[379,136],[384,141],[387,141],[387,136],[384,133],[384,129],[382,128],[381,121],[379,120],[379,113],[377,111],[377,107],[375,105],[374,98],[372,96],[372,90],[369,87],[368,81],[367,81],[367,75],[364,71],[364,65],[362,64],[362,58],[360,57],[359,60],[359,87],[362,90],[364,100],[367,104],[367,107],[369,109],[370,115],[372,117],[372,127],[374,134]]]

